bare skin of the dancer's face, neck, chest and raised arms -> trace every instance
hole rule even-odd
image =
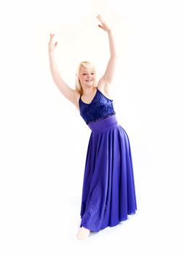
[[[103,77],[100,78],[98,81],[98,84],[96,85],[98,89],[106,95],[109,99],[111,99],[111,81],[114,77],[114,70],[115,70],[115,64],[116,64],[116,52],[115,52],[115,45],[114,45],[114,38],[112,35],[111,28],[107,25],[106,21],[103,20],[103,18],[100,17],[100,15],[97,16],[98,20],[100,20],[100,23],[98,27],[105,31],[108,34],[108,41],[109,41],[109,48],[110,48],[110,59],[108,60],[108,64],[106,67],[106,72],[104,73]],[[79,110],[79,97],[80,94],[78,91],[71,89],[70,86],[68,86],[64,80],[60,77],[60,72],[58,70],[58,67],[56,65],[55,61],[55,48],[58,46],[58,42],[53,43],[53,37],[55,34],[50,34],[50,42],[49,42],[49,58],[50,58],[50,69],[52,73],[52,79],[54,80],[56,86],[58,86],[58,89],[63,94],[66,99],[68,99],[70,102],[72,102],[76,109]],[[95,73],[93,74],[92,69],[86,69],[85,67],[81,67],[79,72],[79,79],[82,84],[83,88],[83,94],[82,94],[82,100],[86,103],[90,103],[95,96],[96,88],[94,85],[95,81]],[[83,72],[85,72],[85,75],[83,75]],[[86,81],[87,79],[93,79],[92,81]]]

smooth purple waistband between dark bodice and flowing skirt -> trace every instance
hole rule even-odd
[[[114,127],[118,127],[119,123],[116,119],[116,114],[114,116],[108,116],[107,118],[92,122],[88,124],[88,127],[92,132],[102,132]]]

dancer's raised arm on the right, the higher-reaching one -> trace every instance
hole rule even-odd
[[[115,48],[114,37],[113,37],[113,33],[112,33],[111,28],[100,17],[100,15],[98,15],[97,18],[102,23],[102,25],[98,25],[98,26],[108,33],[110,59],[108,60],[108,64],[107,64],[107,67],[106,67],[106,72],[104,73],[103,77],[100,79],[100,80],[103,80],[104,83],[106,83],[106,86],[107,86],[107,85],[111,84],[111,81],[114,78],[114,71],[115,71],[116,60],[117,60],[116,48]]]

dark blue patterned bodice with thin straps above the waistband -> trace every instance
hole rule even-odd
[[[108,99],[98,88],[95,97],[89,104],[83,102],[81,97],[82,95],[80,95],[79,98],[79,110],[80,115],[84,118],[86,124],[116,114],[114,111],[113,99]]]

